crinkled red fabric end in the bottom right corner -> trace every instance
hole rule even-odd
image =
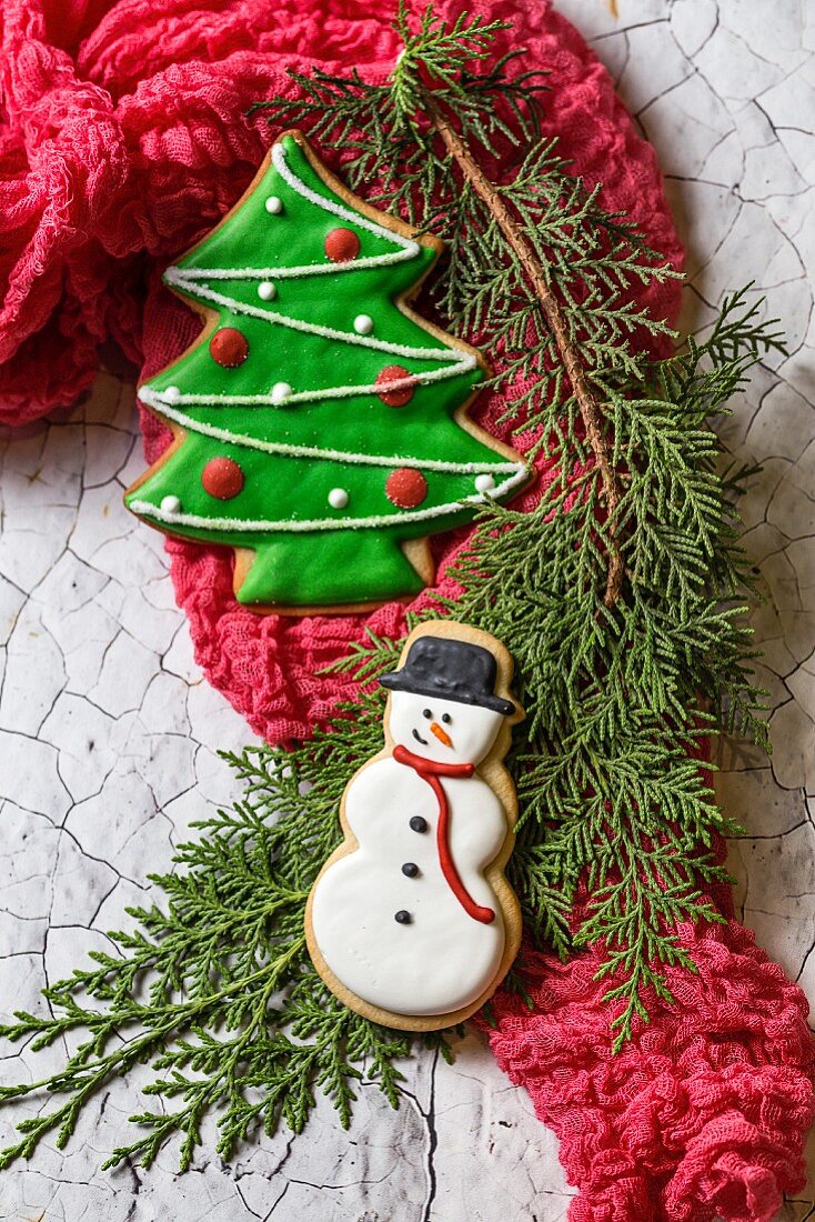
[[[495,1057],[582,1188],[569,1222],[770,1222],[805,1183],[806,1001],[738,921],[681,932],[699,975],[670,969],[676,1006],[651,998],[616,1056],[598,951],[566,965],[530,952],[534,1012],[495,1001]]]

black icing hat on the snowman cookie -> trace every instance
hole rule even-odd
[[[450,637],[419,637],[411,645],[402,670],[382,675],[379,682],[391,692],[475,704],[508,717],[516,706],[495,694],[497,673],[495,657],[481,645]]]

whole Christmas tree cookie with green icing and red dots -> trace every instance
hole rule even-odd
[[[165,273],[206,326],[139,390],[175,444],[126,503],[235,549],[238,601],[415,595],[433,580],[428,535],[525,481],[519,456],[467,418],[479,354],[406,304],[440,249],[348,193],[290,132]]]

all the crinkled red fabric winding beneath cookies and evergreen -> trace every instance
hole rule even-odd
[[[528,48],[524,66],[551,73],[546,109],[562,150],[678,262],[654,155],[579,35],[547,0],[467,7],[516,23],[505,45]],[[268,143],[246,110],[291,90],[285,68],[356,65],[381,79],[397,45],[392,13],[365,0],[0,0],[0,420],[22,423],[75,400],[105,338],[147,376],[194,337],[198,324],[152,260],[177,255],[241,194]],[[677,290],[641,299],[672,316]],[[477,418],[501,434],[501,408],[481,396]],[[149,414],[144,431],[155,456],[164,437]],[[435,544],[445,593],[461,541]],[[169,550],[200,664],[271,741],[308,734],[331,710],[341,681],[316,672],[365,623],[403,624],[396,605],[368,617],[259,617],[232,598],[227,552]],[[651,1024],[621,1056],[610,1050],[607,986],[594,980],[599,949],[566,965],[529,954],[532,1013],[495,998],[499,1063],[558,1134],[580,1188],[572,1222],[767,1222],[781,1191],[803,1182],[814,1073],[803,995],[736,921],[682,934],[699,975],[670,973],[678,1004],[654,1000]]]

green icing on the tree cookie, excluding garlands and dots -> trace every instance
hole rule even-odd
[[[492,473],[500,485],[512,475],[511,463],[453,419],[483,379],[481,370],[456,370],[466,354],[396,304],[396,298],[433,265],[436,252],[418,247],[408,258],[390,262],[402,253],[400,242],[390,233],[370,232],[362,214],[321,180],[298,143],[291,137],[282,143],[286,165],[298,182],[320,202],[353,215],[337,216],[320,202],[304,198],[270,164],[243,203],[178,263],[176,271],[170,270],[176,291],[215,309],[219,326],[243,334],[249,356],[236,369],[226,369],[210,356],[209,342],[200,342],[147,382],[148,401],[167,387],[204,401],[164,406],[153,401],[154,409],[187,433],[182,445],[131,489],[126,500],[147,521],[172,534],[254,549],[255,560],[237,595],[249,605],[331,606],[415,594],[422,579],[401,545],[467,522],[473,510],[459,502],[475,492],[475,474]],[[277,215],[266,210],[270,196],[282,202]],[[362,265],[348,264],[341,270],[326,258],[325,238],[337,227],[358,233],[356,262]],[[368,268],[362,262],[368,258],[389,262]],[[276,290],[271,301],[258,295],[263,276],[211,275],[298,266],[330,270],[270,276]],[[205,275],[180,284],[178,275],[191,271]],[[299,330],[274,320],[274,314],[342,335]],[[359,314],[374,319],[371,340],[437,354],[382,352],[357,342],[353,326]],[[387,365],[429,379],[417,385],[406,406],[389,407],[369,391],[282,406],[219,402],[221,396],[269,396],[276,382],[288,384],[294,396],[365,387]],[[440,370],[447,376],[439,378]],[[309,447],[320,453],[269,452],[264,445]],[[351,462],[337,452],[384,462]],[[243,489],[228,501],[214,499],[202,485],[202,472],[214,457],[228,457],[243,470]],[[474,469],[424,466],[437,461],[472,464]],[[415,466],[426,479],[426,497],[415,510],[395,506],[385,494],[387,477],[397,466]],[[332,489],[347,494],[347,506],[331,508]],[[177,497],[181,508],[163,511],[166,497]],[[298,529],[301,523],[309,527]]]

